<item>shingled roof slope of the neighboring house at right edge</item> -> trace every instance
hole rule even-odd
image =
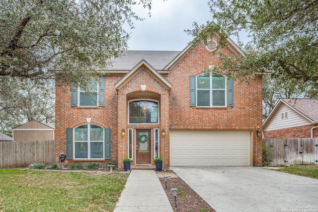
[[[285,103],[295,108],[298,112],[313,121],[318,121],[317,99],[282,99]]]

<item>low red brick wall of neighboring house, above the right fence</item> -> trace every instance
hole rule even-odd
[[[311,138],[312,128],[316,125],[286,128],[263,132],[264,139]],[[313,138],[318,138],[318,128],[314,129]]]

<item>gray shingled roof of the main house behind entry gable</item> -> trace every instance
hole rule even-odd
[[[109,70],[132,70],[141,60],[145,60],[155,70],[163,70],[181,51],[124,51],[112,60]]]

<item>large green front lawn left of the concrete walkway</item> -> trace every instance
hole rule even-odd
[[[0,211],[113,211],[128,173],[0,169]]]

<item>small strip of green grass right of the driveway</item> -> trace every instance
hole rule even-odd
[[[277,169],[275,171],[318,179],[318,166],[316,165],[295,165]]]

